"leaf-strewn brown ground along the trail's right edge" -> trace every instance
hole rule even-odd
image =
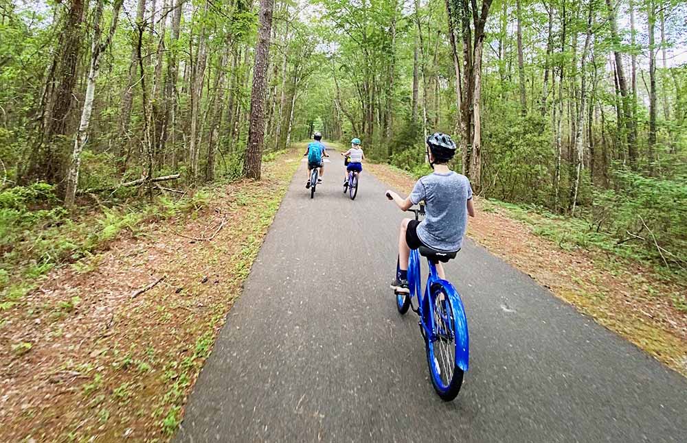
[[[416,182],[389,165],[366,163],[365,169],[405,193]],[[687,376],[687,282],[593,248],[563,248],[540,235],[544,217],[536,213],[525,217],[512,205],[478,197],[475,207],[477,216],[468,224],[471,239]]]

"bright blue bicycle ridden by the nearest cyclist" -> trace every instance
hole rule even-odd
[[[388,195],[387,195],[388,196]],[[425,206],[410,208],[415,219],[425,215]],[[460,294],[447,280],[439,277],[436,263],[446,263],[457,252],[443,252],[425,247],[411,250],[408,261],[409,294],[396,293],[396,308],[402,315],[412,309],[420,317],[420,334],[425,340],[431,382],[442,400],[458,395],[463,374],[468,370],[468,323]],[[422,291],[420,255],[427,258],[429,276]],[[398,272],[398,268],[396,269]],[[423,295],[422,295],[423,294]],[[417,296],[417,307],[413,297]]]

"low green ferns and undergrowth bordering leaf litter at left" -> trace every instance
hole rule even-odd
[[[76,272],[89,272],[97,265],[96,254],[124,233],[142,235],[150,221],[194,216],[209,202],[210,193],[200,190],[69,214],[49,184],[1,191],[0,311],[21,302],[54,267],[71,263]]]

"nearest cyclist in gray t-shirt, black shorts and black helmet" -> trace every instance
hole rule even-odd
[[[451,171],[447,163],[455,154],[455,143],[451,136],[435,132],[427,137],[427,157],[434,170],[421,177],[412,193],[402,198],[394,191],[387,191],[392,200],[403,211],[414,204],[425,202],[425,218],[422,221],[403,219],[398,232],[398,266],[400,271],[391,287],[396,293],[409,294],[408,256],[411,249],[425,246],[441,252],[455,252],[462,247],[467,228],[467,217],[475,217],[472,187],[468,178]],[[440,278],[444,268],[437,264]]]

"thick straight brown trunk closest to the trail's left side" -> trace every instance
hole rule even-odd
[[[262,141],[264,139],[264,92],[267,83],[267,65],[269,64],[269,36],[272,28],[272,8],[274,0],[260,0],[260,25],[258,27],[258,44],[253,73],[251,92],[251,115],[248,130],[248,145],[243,163],[243,173],[248,178],[260,180],[262,163]]]

